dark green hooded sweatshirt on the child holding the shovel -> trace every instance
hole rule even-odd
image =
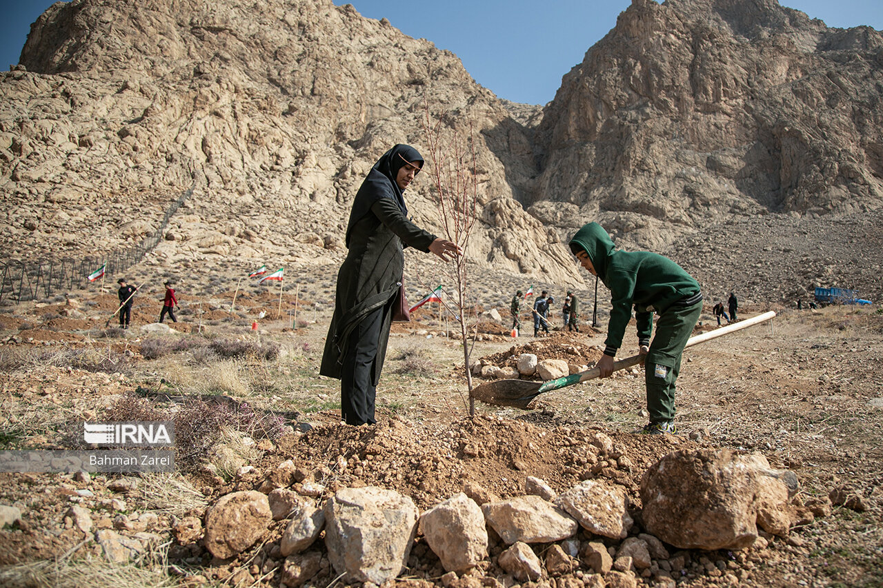
[[[675,302],[699,293],[698,282],[667,257],[646,251],[616,251],[608,232],[597,222],[584,225],[570,239],[570,251],[576,254],[580,250],[588,253],[600,281],[610,290],[613,309],[604,351],[608,355],[615,355],[623,345],[632,305],[638,341],[646,344],[653,332],[654,311],[664,313]]]

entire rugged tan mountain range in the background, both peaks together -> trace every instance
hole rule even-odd
[[[427,114],[475,138],[479,267],[578,284],[564,244],[599,220],[727,288],[718,253],[763,252],[758,216],[791,249],[798,222],[858,217],[868,243],[883,230],[883,35],[774,0],[633,0],[545,109],[330,0],[59,3],[0,75],[4,258],[131,245],[193,186],[155,262],[336,262],[362,177],[396,142],[427,155]],[[439,231],[431,179],[408,199]],[[844,243],[810,265],[879,267]],[[769,253],[758,263],[778,269],[751,296],[832,279]],[[837,285],[883,295],[849,259]]]

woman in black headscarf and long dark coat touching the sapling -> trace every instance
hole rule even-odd
[[[336,299],[319,373],[341,381],[341,413],[348,425],[374,424],[374,396],[389,341],[392,307],[404,271],[404,246],[448,261],[459,245],[419,229],[403,193],[423,157],[396,145],[368,172],[352,202],[337,274]],[[404,244],[404,245],[403,245]]]

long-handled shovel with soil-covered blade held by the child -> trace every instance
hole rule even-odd
[[[701,335],[691,336],[684,347],[705,343],[709,339],[714,339],[723,335],[728,335],[734,331],[748,328],[758,323],[770,320],[775,316],[774,311],[758,314],[751,319],[741,320],[739,322],[727,325],[726,327],[716,328]],[[613,365],[614,371],[621,370],[626,367],[637,366],[644,363],[644,355],[633,355],[630,358],[620,359]],[[499,406],[514,406],[515,408],[526,409],[527,405],[534,398],[540,396],[543,392],[549,390],[557,390],[558,388],[566,388],[573,386],[582,381],[592,380],[600,376],[600,369],[592,367],[590,370],[580,373],[572,373],[569,376],[549,381],[527,381],[527,380],[496,380],[479,384],[472,388],[472,397],[487,404],[497,404]]]

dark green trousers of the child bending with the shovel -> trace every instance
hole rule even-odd
[[[683,348],[702,312],[702,303],[669,308],[656,320],[656,335],[645,360],[647,411],[650,422],[675,419],[675,381],[681,371]]]

